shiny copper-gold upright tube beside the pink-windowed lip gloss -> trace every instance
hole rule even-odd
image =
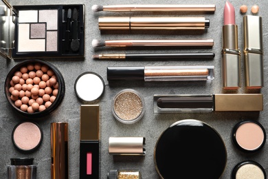
[[[51,178],[68,179],[68,123],[51,123]]]

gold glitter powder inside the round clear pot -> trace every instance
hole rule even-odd
[[[114,104],[115,114],[123,120],[133,120],[142,113],[142,100],[133,92],[123,92]]]

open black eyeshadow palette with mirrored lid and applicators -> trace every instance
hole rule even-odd
[[[10,59],[84,57],[84,8],[82,4],[13,6],[12,21],[5,18],[8,8],[2,8],[1,23],[8,22],[13,28],[10,28],[10,39],[0,36],[0,40],[13,42],[5,43],[10,47],[0,44],[1,52],[9,52],[5,56]]]

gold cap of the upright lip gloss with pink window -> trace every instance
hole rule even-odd
[[[81,105],[80,140],[99,140],[99,105]]]

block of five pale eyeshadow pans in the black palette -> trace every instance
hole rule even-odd
[[[58,10],[19,10],[18,52],[58,51]]]

